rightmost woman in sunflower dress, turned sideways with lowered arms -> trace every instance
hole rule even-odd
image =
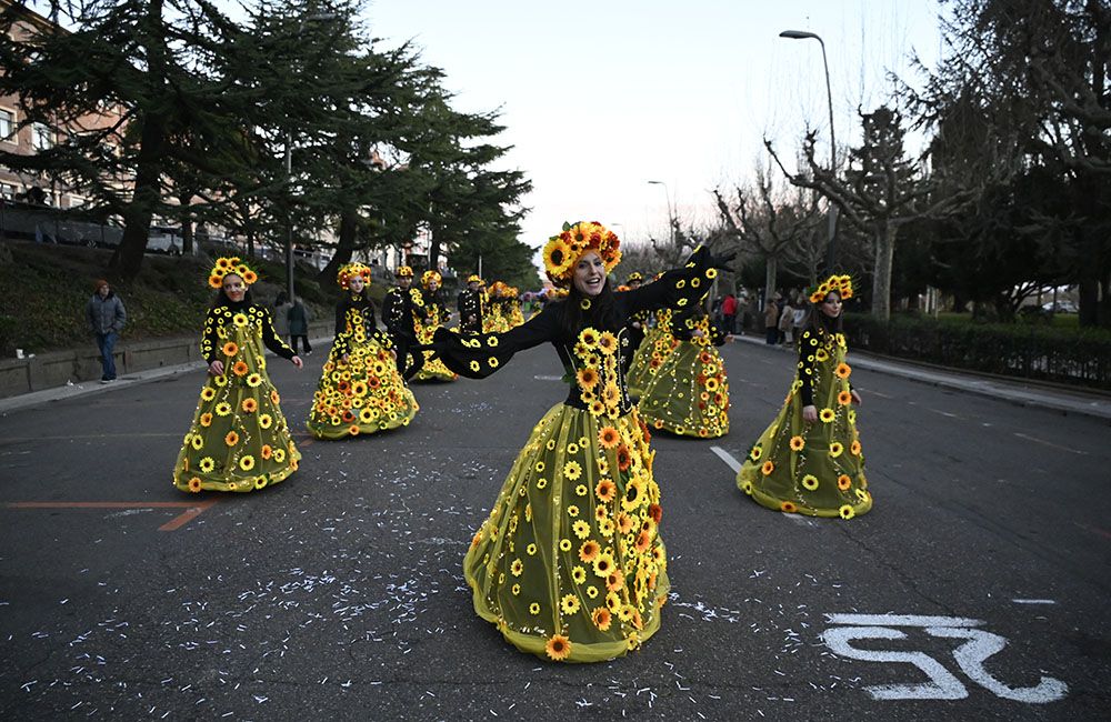
[[[741,491],[769,509],[852,519],[872,508],[852,408],[860,394],[844,362],[841,300],[849,298],[848,275],[831,275],[811,294],[798,378],[737,474]]]

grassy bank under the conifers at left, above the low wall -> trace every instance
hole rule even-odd
[[[108,279],[123,299],[128,311],[123,338],[131,341],[183,334],[199,338],[214,298],[207,284],[211,262],[203,257],[147,255],[139,278],[117,285],[118,279],[104,270],[111,251],[18,242],[8,247],[13,260],[0,264],[6,297],[0,311],[3,357],[14,355],[17,348],[44,353],[92,344],[84,308],[98,278]],[[261,279],[251,289],[254,299],[272,303],[282,288],[283,268],[267,262],[251,265]],[[332,300],[320,284],[307,277],[296,282],[313,317],[329,318]]]

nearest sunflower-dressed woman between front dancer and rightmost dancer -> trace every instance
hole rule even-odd
[[[725,338],[705,313],[672,319],[678,345],[640,397],[640,415],[649,427],[680,437],[715,439],[729,433],[729,378],[718,353]]]

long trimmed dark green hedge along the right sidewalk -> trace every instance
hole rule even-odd
[[[921,317],[845,318],[850,347],[958,369],[1111,390],[1111,333]]]

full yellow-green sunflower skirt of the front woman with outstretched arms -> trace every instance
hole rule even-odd
[[[474,611],[522,652],[600,662],[660,628],[660,489],[637,412],[560,404],[532,430],[463,560]]]

